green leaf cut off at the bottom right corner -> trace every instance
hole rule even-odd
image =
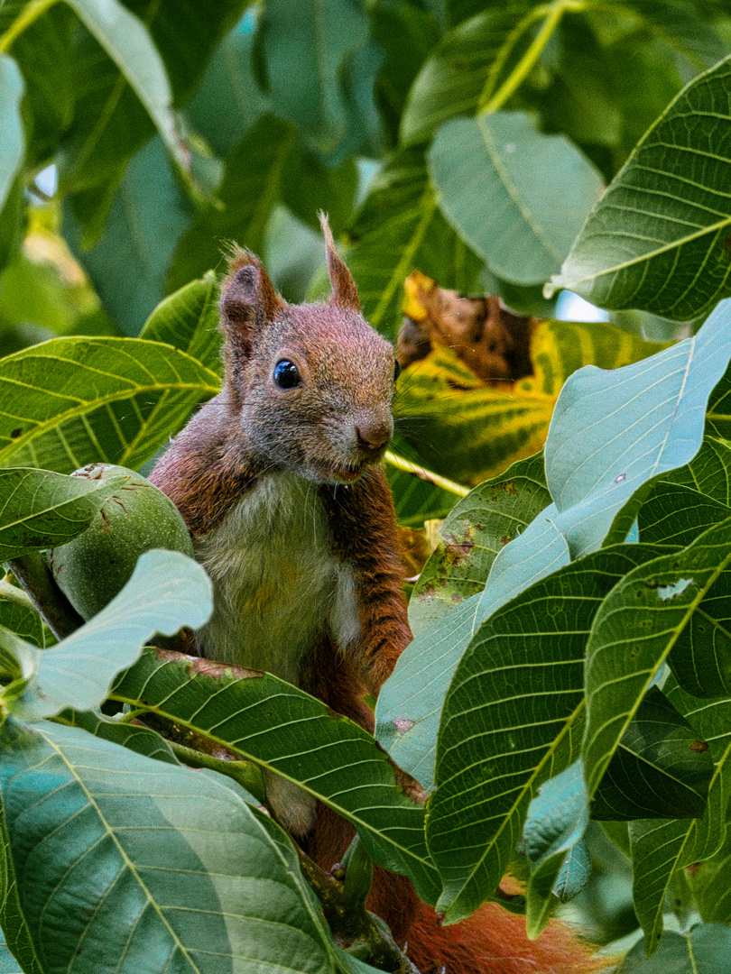
[[[689,933],[666,933],[652,957],[645,956],[641,943],[635,944],[615,974],[726,974],[730,951],[731,929],[701,923]]]

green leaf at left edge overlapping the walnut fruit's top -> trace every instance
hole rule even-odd
[[[0,561],[78,537],[128,479],[101,483],[51,470],[0,469]]]

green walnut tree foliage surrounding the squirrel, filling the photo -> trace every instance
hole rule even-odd
[[[623,974],[720,970],[730,187],[726,0],[0,2],[0,970],[375,969],[257,767],[447,923],[512,873],[531,936],[573,911],[637,928]],[[74,468],[144,467],[218,390],[228,242],[322,293],[318,209],[392,339],[414,270],[543,319],[509,389],[445,349],[404,370],[397,511],[444,520],[375,741],[146,646],[211,611],[183,555],[75,631],[17,583],[105,500]],[[612,323],[556,320],[564,288]]]

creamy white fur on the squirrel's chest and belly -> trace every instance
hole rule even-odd
[[[196,543],[213,582],[204,656],[297,683],[303,656],[329,632],[341,649],[360,626],[352,571],[332,554],[317,486],[271,473]]]

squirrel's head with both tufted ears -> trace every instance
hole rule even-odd
[[[247,449],[318,483],[349,483],[393,433],[399,365],[361,314],[355,281],[321,214],[332,296],[290,305],[246,250],[221,289],[226,390]]]

